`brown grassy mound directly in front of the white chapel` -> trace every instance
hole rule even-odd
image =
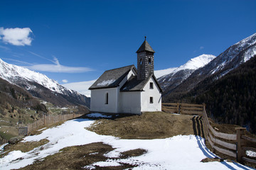
[[[159,139],[176,135],[193,135],[192,118],[192,115],[143,113],[114,120],[95,120],[87,130],[122,139]]]

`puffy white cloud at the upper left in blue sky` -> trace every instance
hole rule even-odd
[[[31,28],[0,28],[0,40],[11,45],[31,45]]]

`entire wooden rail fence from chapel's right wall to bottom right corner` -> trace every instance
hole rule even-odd
[[[209,123],[206,106],[203,104],[162,103],[163,111],[203,116],[203,130],[206,140],[213,150],[234,157],[238,162],[256,164],[256,159],[249,157],[246,152],[256,152],[256,139],[245,136],[246,128],[235,128],[235,134],[217,132]]]

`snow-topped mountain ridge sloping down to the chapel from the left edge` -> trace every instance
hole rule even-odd
[[[57,106],[83,105],[90,107],[90,98],[67,89],[46,75],[8,64],[0,59],[0,77],[11,84],[21,86],[33,96]]]

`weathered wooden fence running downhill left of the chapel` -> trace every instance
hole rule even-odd
[[[45,125],[50,125],[53,123],[58,123],[60,121],[65,121],[73,118],[78,118],[82,114],[65,114],[65,115],[43,115],[43,118],[36,120],[34,123],[28,124],[27,127],[21,127],[18,129],[18,135],[28,135],[29,132],[33,130],[38,130],[38,128],[42,128]],[[27,130],[24,130],[27,128]],[[26,134],[21,134],[21,132],[26,132]]]

